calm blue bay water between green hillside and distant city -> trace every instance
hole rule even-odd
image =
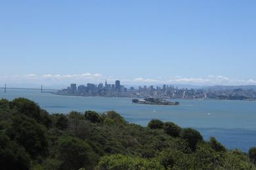
[[[0,98],[26,97],[53,113],[71,110],[116,110],[128,122],[146,126],[153,118],[198,129],[205,140],[216,137],[226,147],[244,152],[256,146],[256,101],[178,100],[180,106],[137,105],[131,98],[52,95],[33,90],[0,90]]]

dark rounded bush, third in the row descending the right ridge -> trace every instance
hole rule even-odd
[[[181,138],[188,141],[188,146],[192,150],[196,150],[196,144],[203,140],[203,137],[200,134],[200,132],[192,128],[184,128],[181,131]]]

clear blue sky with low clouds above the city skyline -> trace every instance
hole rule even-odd
[[[0,83],[256,84],[256,1],[1,1]]]

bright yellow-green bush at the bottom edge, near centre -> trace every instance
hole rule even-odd
[[[123,156],[121,154],[114,154],[111,156],[105,156],[100,159],[96,169],[140,169],[140,170],[150,170],[150,169],[164,169],[160,162],[155,159],[144,159],[139,157]]]

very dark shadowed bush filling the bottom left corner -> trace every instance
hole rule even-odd
[[[30,169],[30,157],[25,148],[0,133],[0,169]]]

